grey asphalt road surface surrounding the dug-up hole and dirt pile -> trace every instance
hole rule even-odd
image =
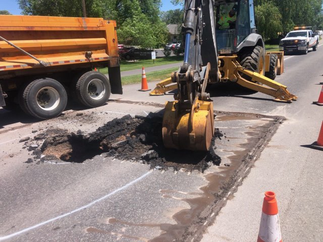
[[[220,213],[207,215],[190,241],[256,240],[267,190],[277,194],[283,241],[323,240],[323,153],[304,147],[317,140],[323,120],[322,107],[312,104],[321,89],[317,84],[323,82],[320,48],[285,56],[285,73],[276,81],[298,96],[291,104],[226,86],[210,90],[215,110],[280,115],[286,120],[264,144],[250,173],[241,176],[240,186],[227,194]],[[172,95],[149,97],[138,89],[140,84],[125,86],[123,95],[111,96],[118,102],[95,109],[72,106],[64,115],[42,122],[0,109],[5,117],[0,121],[0,241],[148,241],[160,234],[167,237],[154,241],[184,240],[178,236],[190,226],[186,222],[196,209],[205,206],[200,200],[207,200],[213,186],[219,186],[214,177],[225,176],[223,163],[205,173],[151,170],[146,164],[104,156],[83,163],[25,163],[32,155],[19,142],[24,137],[32,140],[51,127],[90,133],[115,117],[146,116],[173,100]],[[266,118],[240,123],[217,119],[216,127],[246,145],[261,122]],[[250,147],[232,144],[222,149],[227,153],[223,161],[233,162],[231,156],[249,152]]]

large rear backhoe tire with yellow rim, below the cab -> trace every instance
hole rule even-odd
[[[252,51],[242,54],[240,65],[250,71],[257,72],[263,75],[264,62],[265,62],[264,49],[261,46],[257,45],[254,47]],[[249,77],[246,79],[250,80]]]

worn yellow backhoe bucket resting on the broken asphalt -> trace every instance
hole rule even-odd
[[[191,110],[179,112],[178,101],[167,102],[163,118],[166,148],[207,151],[214,133],[213,103],[194,101]]]

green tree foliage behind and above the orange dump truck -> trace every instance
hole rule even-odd
[[[81,0],[18,0],[25,15],[82,17]],[[117,21],[119,42],[158,47],[168,37],[159,18],[160,0],[86,0],[87,17]]]

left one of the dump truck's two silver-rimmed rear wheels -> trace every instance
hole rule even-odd
[[[67,93],[58,81],[41,78],[27,84],[20,92],[19,105],[24,112],[40,119],[60,115],[67,104]]]

